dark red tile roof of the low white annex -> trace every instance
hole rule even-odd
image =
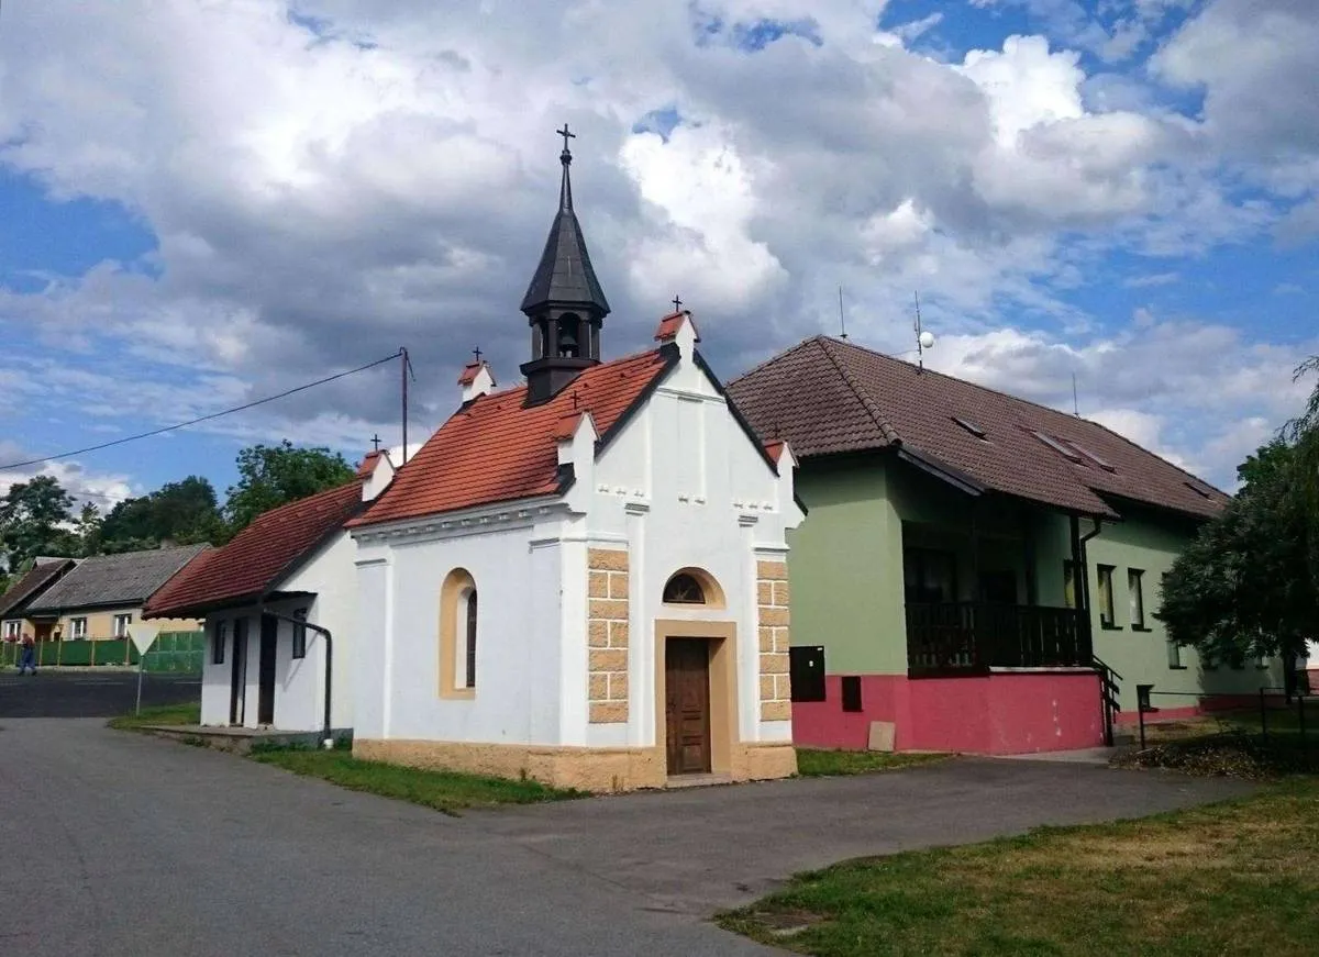
[[[146,602],[153,618],[255,601],[274,591],[361,506],[361,481],[272,509],[223,548],[202,552]]]

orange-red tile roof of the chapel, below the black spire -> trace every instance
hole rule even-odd
[[[525,407],[526,386],[463,405],[430,436],[371,509],[350,526],[419,518],[561,490],[557,443],[591,413],[600,442],[677,361],[674,347],[592,366],[558,395]]]

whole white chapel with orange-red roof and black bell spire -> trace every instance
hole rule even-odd
[[[526,384],[463,403],[365,514],[353,753],[595,791],[795,771],[791,453],[696,352],[600,361],[608,303],[572,211],[522,302]]]

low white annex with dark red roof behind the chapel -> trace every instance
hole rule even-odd
[[[203,725],[352,728],[357,601],[344,522],[393,472],[388,455],[369,453],[353,481],[260,515],[152,598],[146,618],[204,618]]]

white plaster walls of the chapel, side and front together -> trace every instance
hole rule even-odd
[[[740,737],[791,738],[790,722],[760,721],[756,629],[757,556],[785,558],[785,527],[801,521],[791,475],[777,475],[690,357],[599,460],[592,438],[579,430],[561,448],[576,475],[572,511],[518,502],[359,533],[357,737],[654,745],[662,616],[736,622]],[[629,552],[625,725],[588,722],[590,547]],[[718,579],[725,608],[661,608],[669,576],[689,566]],[[471,573],[480,596],[471,700],[439,696],[441,587],[454,568]]]

